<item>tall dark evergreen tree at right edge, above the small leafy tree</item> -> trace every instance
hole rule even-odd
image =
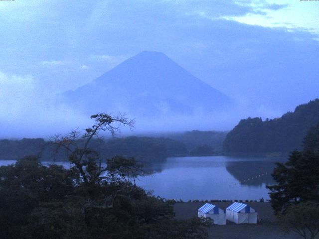
[[[276,185],[267,186],[275,213],[284,213],[292,203],[319,202],[319,124],[305,137],[304,150],[293,151],[286,163],[277,163],[272,174]]]

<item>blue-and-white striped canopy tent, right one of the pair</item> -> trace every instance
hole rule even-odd
[[[226,209],[226,218],[228,221],[236,224],[257,223],[258,214],[247,204],[233,203]]]

